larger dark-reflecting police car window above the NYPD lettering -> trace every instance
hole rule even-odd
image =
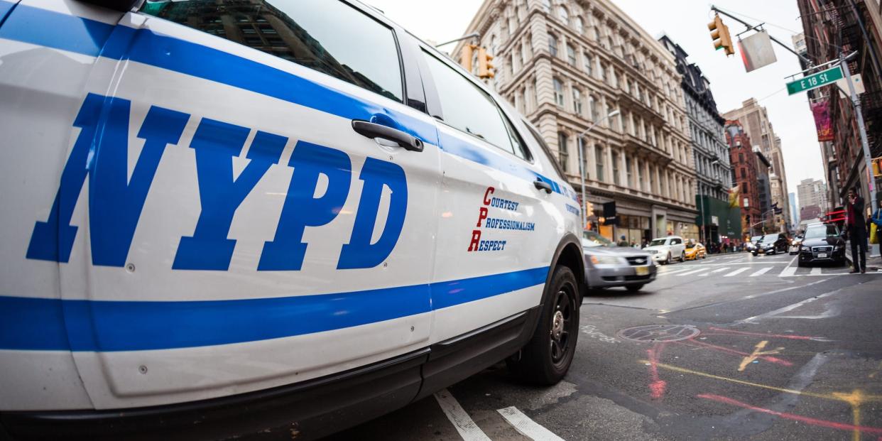
[[[392,29],[337,0],[148,0],[141,11],[302,64],[395,101]]]

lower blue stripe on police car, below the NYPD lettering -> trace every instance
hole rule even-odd
[[[0,296],[0,349],[134,351],[321,333],[542,285],[548,272],[545,266],[407,287],[237,300],[128,302]],[[425,291],[430,291],[431,301]]]

